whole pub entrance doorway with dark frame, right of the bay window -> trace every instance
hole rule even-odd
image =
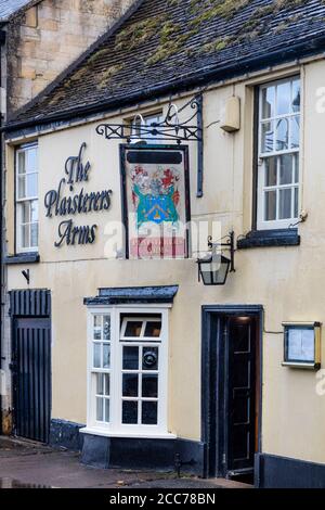
[[[203,308],[205,474],[253,483],[261,426],[261,306]]]

